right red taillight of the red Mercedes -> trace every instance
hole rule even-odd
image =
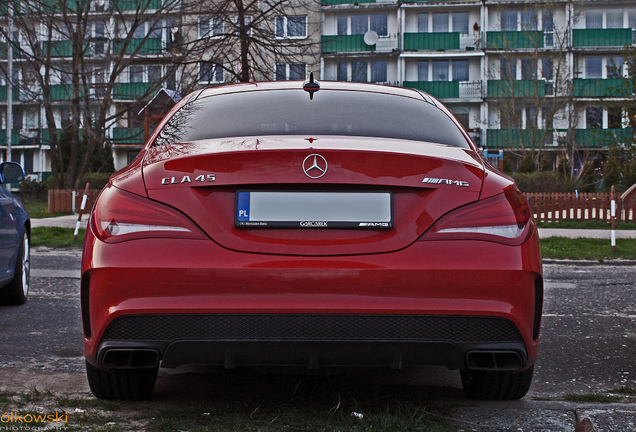
[[[520,244],[528,235],[530,209],[516,187],[460,207],[437,221],[422,240],[481,239]]]

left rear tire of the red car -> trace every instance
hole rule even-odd
[[[155,387],[158,367],[139,369],[99,369],[86,362],[88,385],[99,399],[146,400]]]

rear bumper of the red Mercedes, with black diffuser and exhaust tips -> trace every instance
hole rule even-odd
[[[308,258],[91,236],[85,356],[117,368],[524,369],[537,357],[543,295],[535,240],[416,242],[385,254]]]

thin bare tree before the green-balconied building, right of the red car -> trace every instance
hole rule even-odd
[[[518,149],[513,154],[534,169],[542,166],[546,147],[553,142],[566,144],[566,131],[573,128],[569,28],[554,27],[553,6],[501,5],[502,31],[490,32],[487,41],[488,49],[500,54],[489,68],[494,73],[489,77],[488,98],[500,127],[494,138],[500,146]],[[567,155],[564,152],[562,157]]]

